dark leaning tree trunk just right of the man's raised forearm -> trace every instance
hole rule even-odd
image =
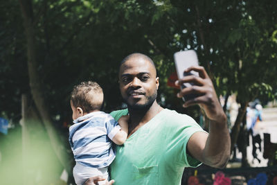
[[[238,116],[235,119],[235,124],[233,125],[231,130],[231,151],[233,151],[235,143],[237,143],[238,134],[240,133],[240,123],[242,123],[242,118],[247,112],[248,103],[249,102],[241,103],[240,108],[238,109]]]

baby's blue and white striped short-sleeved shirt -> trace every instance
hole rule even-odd
[[[69,143],[75,161],[91,168],[109,166],[116,157],[111,139],[120,130],[118,122],[105,112],[91,112],[73,123]]]

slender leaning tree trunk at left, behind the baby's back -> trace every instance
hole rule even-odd
[[[27,56],[28,56],[28,75],[30,80],[30,91],[33,95],[33,100],[42,118],[42,122],[46,127],[46,131],[51,141],[51,146],[60,159],[62,165],[66,171],[71,173],[71,160],[69,154],[66,153],[64,144],[60,141],[60,138],[55,130],[55,127],[51,123],[51,116],[48,114],[46,103],[43,98],[41,82],[39,82],[39,74],[37,73],[37,60],[35,52],[35,34],[33,25],[33,8],[32,1],[19,0],[21,11],[24,19],[24,28],[27,40]]]

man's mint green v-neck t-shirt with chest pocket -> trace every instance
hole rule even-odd
[[[127,114],[127,109],[111,112],[116,120]],[[188,139],[199,131],[190,116],[163,109],[116,147],[110,166],[114,185],[181,184],[184,168],[201,164],[186,153]]]

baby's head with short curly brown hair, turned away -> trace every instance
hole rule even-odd
[[[75,85],[70,98],[73,120],[90,112],[99,111],[103,99],[103,91],[98,83],[88,81]]]

